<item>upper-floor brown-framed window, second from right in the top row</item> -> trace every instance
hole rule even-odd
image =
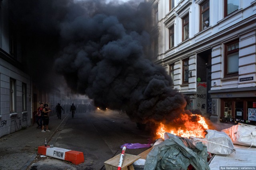
[[[209,27],[210,23],[210,2],[209,0],[200,5],[200,31]]]

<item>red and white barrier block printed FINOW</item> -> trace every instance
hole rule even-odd
[[[50,148],[50,146],[47,146],[47,147],[40,146],[38,147],[38,154],[66,160],[66,161],[72,162],[75,165],[78,165],[84,162],[83,152],[78,152],[75,150],[68,150],[68,149],[57,148],[57,147]]]

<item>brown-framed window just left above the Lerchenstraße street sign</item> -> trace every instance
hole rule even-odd
[[[224,74],[225,76],[238,75],[239,69],[239,40],[225,45]]]

